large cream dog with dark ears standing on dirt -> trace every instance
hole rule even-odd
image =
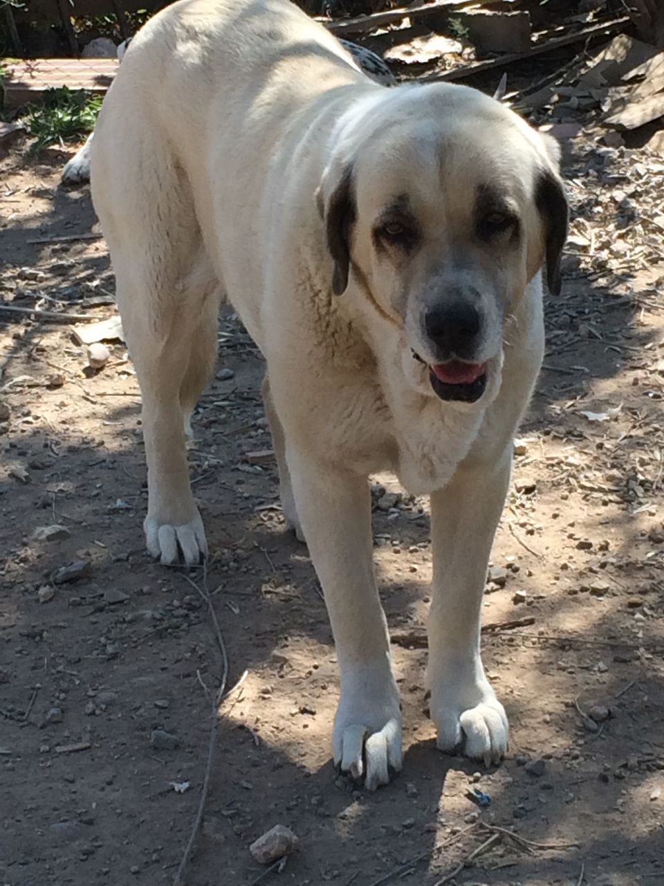
[[[559,288],[557,159],[474,89],[370,82],[289,0],[168,6],[97,123],[93,198],[143,393],[148,548],[163,563],[207,552],[184,428],[224,293],[265,356],[283,511],[325,591],[334,757],[368,788],[401,767],[370,471],[431,497],[438,745],[487,764],[506,752],[480,607],[542,360],[544,261]]]

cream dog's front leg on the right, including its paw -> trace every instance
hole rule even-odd
[[[505,503],[511,447],[496,460],[462,464],[431,496],[434,587],[429,613],[431,718],[441,750],[498,763],[508,726],[484,674],[480,612],[493,536]]]

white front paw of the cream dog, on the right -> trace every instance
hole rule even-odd
[[[436,724],[436,745],[440,750],[461,750],[467,757],[483,760],[485,766],[505,757],[509,740],[507,716],[486,680],[482,685],[466,688],[432,688],[429,710]]]

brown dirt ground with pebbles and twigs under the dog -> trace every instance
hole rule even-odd
[[[18,144],[0,162],[0,298],[102,319],[113,289],[104,241],[50,242],[96,230],[89,190],[58,184],[65,156],[27,159]],[[502,766],[436,751],[422,688],[429,515],[403,495],[376,506],[374,532],[404,772],[374,794],[337,777],[328,620],[263,452],[260,356],[222,317],[220,377],[189,455],[228,686],[246,675],[220,709],[189,886],[664,883],[664,250],[651,162],[592,138],[567,159],[575,239],[563,293],[547,300],[546,368],[484,603],[484,622],[499,626],[484,633],[484,660],[512,727]],[[90,371],[73,325],[0,311],[0,882],[172,883],[223,664],[197,588],[143,552],[125,348],[110,345]],[[374,482],[401,492],[393,478]],[[64,528],[35,534],[53,525]],[[73,561],[87,565],[62,582]],[[204,587],[200,572],[189,578]],[[277,823],[300,841],[281,873],[248,850]]]

